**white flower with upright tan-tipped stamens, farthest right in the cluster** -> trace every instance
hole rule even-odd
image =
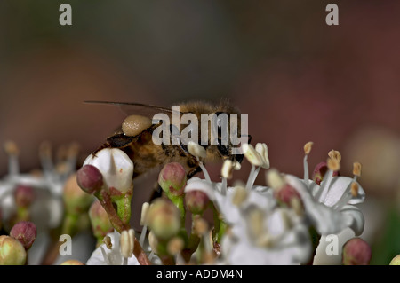
[[[332,150],[328,153],[328,171],[321,185],[317,185],[308,179],[307,157],[310,150],[310,145],[305,146],[304,178],[287,175],[286,182],[300,194],[308,217],[321,235],[337,234],[348,227],[356,236],[360,235],[364,230],[364,216],[352,204],[362,203],[365,199],[364,190],[356,181],[361,175],[361,164],[354,163],[353,178],[333,177],[333,171],[340,168],[341,155]]]

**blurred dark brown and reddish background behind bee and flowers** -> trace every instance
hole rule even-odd
[[[309,140],[311,167],[332,148],[343,175],[361,161],[372,263],[400,254],[399,2],[340,2],[332,27],[332,1],[68,1],[60,26],[64,2],[0,1],[0,143],[19,145],[22,171],[44,140],[84,158],[124,120],[84,100],[229,98],[281,171],[301,176]]]

